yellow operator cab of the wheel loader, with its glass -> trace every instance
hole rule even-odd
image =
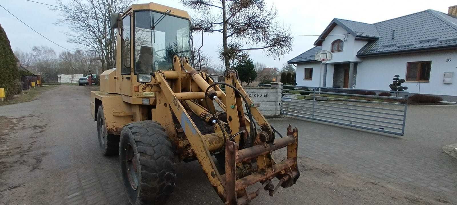
[[[111,24],[117,30],[120,56],[116,61],[119,94],[141,97],[134,93],[134,87],[150,82],[156,71],[172,70],[173,54],[191,58],[191,22],[186,11],[154,3],[137,4],[113,14]]]

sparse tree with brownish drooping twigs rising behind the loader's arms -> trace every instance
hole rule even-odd
[[[264,0],[181,0],[200,15],[192,20],[194,27],[206,32],[223,34],[221,60],[230,69],[241,51],[264,50],[267,55],[279,57],[292,50],[292,36],[274,19],[277,12],[268,8]],[[217,10],[218,15],[211,12]],[[239,43],[247,43],[248,47]],[[260,46],[259,46],[260,45]]]

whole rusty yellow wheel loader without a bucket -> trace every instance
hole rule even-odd
[[[101,153],[119,154],[131,204],[163,204],[181,161],[198,160],[227,205],[249,204],[260,190],[273,196],[279,186],[296,183],[297,128],[289,126],[282,137],[237,72],[227,70],[225,82],[213,82],[192,68],[186,11],[136,4],[112,14],[111,26],[117,31],[117,68],[101,74],[90,108]],[[286,156],[275,161],[271,153],[284,147]]]

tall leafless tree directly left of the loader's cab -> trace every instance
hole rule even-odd
[[[66,24],[68,42],[77,44],[85,51],[95,52],[102,71],[115,66],[116,40],[110,27],[111,13],[125,10],[133,0],[57,0],[61,8],[58,24]]]

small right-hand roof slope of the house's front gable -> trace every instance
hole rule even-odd
[[[377,32],[376,26],[373,24],[367,24],[362,22],[357,22],[353,20],[345,19],[334,19],[339,21],[342,25],[346,26],[350,32],[354,32],[356,37],[367,37],[367,38],[379,38],[379,33]],[[340,25],[340,24],[338,24]],[[343,26],[343,27],[344,27]],[[346,29],[346,30],[347,30]]]

